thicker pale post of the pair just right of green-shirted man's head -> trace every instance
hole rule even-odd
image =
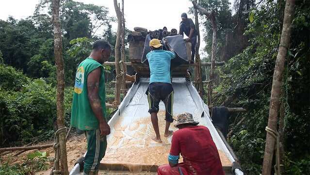
[[[119,5],[117,5],[117,0],[114,0],[114,8],[115,8],[116,17],[117,17],[117,33],[116,33],[116,42],[115,42],[115,48],[114,48],[115,70],[116,70],[114,105],[119,105],[120,104],[120,89],[122,86],[122,77],[120,74],[120,66],[119,66],[119,60],[121,58],[121,53],[120,53],[121,38],[120,37],[121,37],[121,30],[122,30],[122,14],[121,14]]]

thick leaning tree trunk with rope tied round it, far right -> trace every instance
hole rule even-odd
[[[284,69],[285,57],[287,54],[287,48],[290,44],[290,36],[292,30],[292,20],[294,17],[294,5],[295,0],[286,0],[284,10],[283,28],[280,40],[280,46],[277,53],[276,66],[272,81],[271,98],[269,105],[269,118],[268,127],[273,130],[277,130],[277,114],[279,109],[279,99],[281,90],[281,80]],[[265,154],[262,164],[262,175],[270,175],[272,167],[272,158],[275,148],[275,139],[267,132]]]

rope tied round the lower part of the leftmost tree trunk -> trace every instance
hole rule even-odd
[[[70,128],[72,129],[72,127],[70,127]],[[66,134],[66,138],[69,137],[71,129],[69,129],[68,133]],[[53,149],[54,149],[54,152],[55,152],[54,166],[52,168],[52,171],[50,172],[50,175],[61,175],[61,172],[59,170],[60,150],[59,150],[59,138],[58,138],[58,136],[59,136],[60,133],[63,133],[66,130],[67,130],[66,127],[62,127],[62,128],[59,128],[55,132],[55,135],[54,135],[55,143],[53,145]]]

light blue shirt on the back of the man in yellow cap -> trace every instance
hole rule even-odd
[[[153,50],[147,53],[147,60],[150,69],[149,83],[171,83],[170,62],[174,57],[175,53],[164,50]]]

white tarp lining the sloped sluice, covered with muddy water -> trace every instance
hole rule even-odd
[[[128,155],[132,156],[134,160],[146,160],[156,164],[157,159],[151,159],[149,156],[151,153],[144,153],[147,149],[158,148],[157,151],[161,154],[163,159],[167,159],[167,150],[160,150],[161,147],[166,146],[170,148],[171,137],[164,141],[164,144],[149,142],[149,138],[153,135],[153,129],[150,123],[150,115],[148,111],[147,95],[145,94],[149,83],[149,78],[140,78],[139,83],[132,85],[122,103],[119,105],[117,112],[109,121],[111,127],[111,134],[107,136],[108,148],[105,157],[101,163],[109,163],[109,161],[119,161],[121,163],[135,163],[134,161],[128,161]],[[225,155],[226,159],[230,163],[235,160],[226,147],[225,143],[217,133],[215,127],[212,124],[212,120],[209,115],[209,108],[200,98],[196,88],[191,82],[186,81],[185,78],[173,78],[172,86],[174,88],[174,105],[173,116],[183,112],[190,112],[193,114],[194,120],[199,122],[199,125],[204,125],[209,128],[212,139],[219,151]],[[164,110],[163,102],[160,103],[160,111]],[[159,115],[159,121],[164,116]],[[175,124],[175,123],[173,123]],[[173,124],[170,129],[176,130]],[[161,126],[162,127],[162,126]],[[146,128],[143,130],[143,128]],[[146,131],[146,132],[145,132]],[[162,139],[165,139],[162,137]],[[127,150],[125,154],[122,154],[122,149]],[[139,151],[136,151],[139,150]],[[76,166],[71,171],[70,175],[77,175]],[[239,169],[234,170],[235,175],[243,175],[243,172]]]

